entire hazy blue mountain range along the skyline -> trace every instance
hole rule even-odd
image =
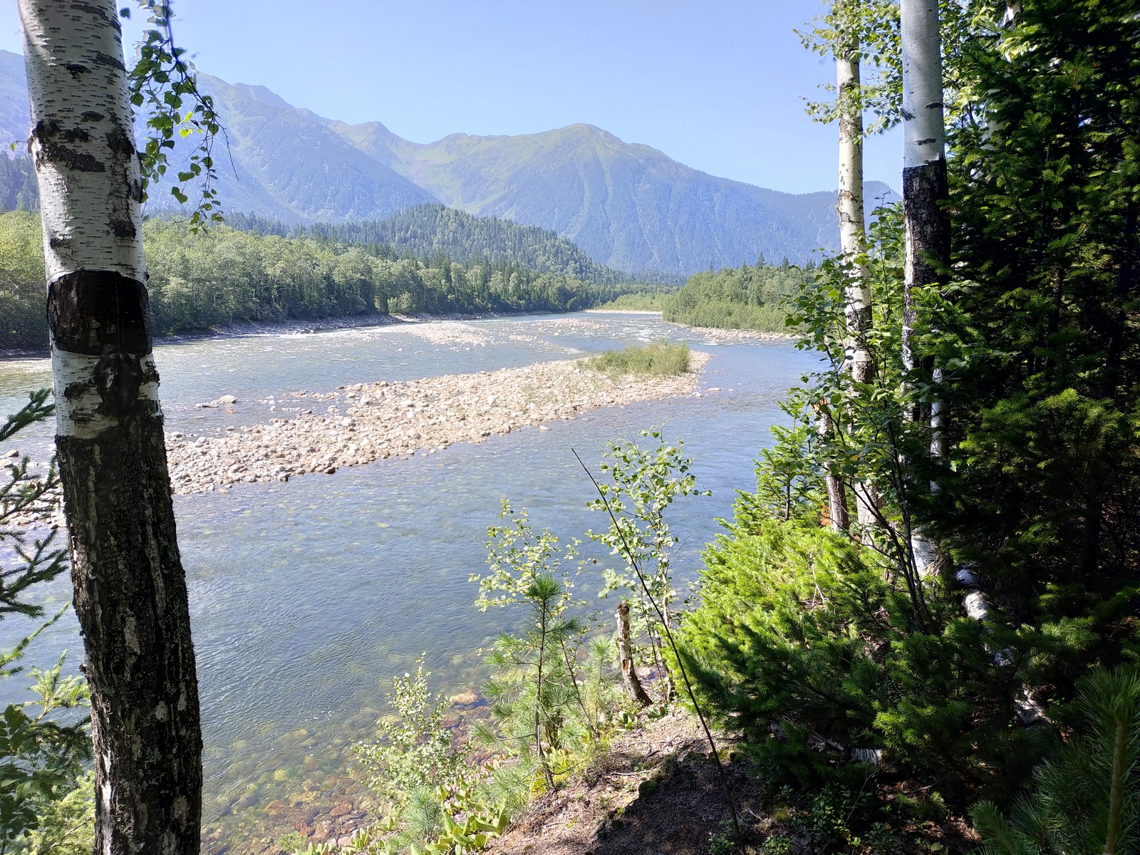
[[[264,87],[207,75],[202,84],[215,98],[237,173],[219,152],[229,211],[344,222],[442,202],[551,229],[608,267],[671,274],[755,262],[760,253],[800,262],[838,243],[833,192],[795,195],[716,178],[588,124],[422,145],[378,122],[349,125],[295,108]],[[23,139],[27,124],[23,58],[0,51],[0,139]],[[868,196],[887,190],[872,184]]]

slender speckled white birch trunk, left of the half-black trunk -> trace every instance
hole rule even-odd
[[[858,13],[860,0],[840,10],[848,18]],[[840,27],[836,43],[836,91],[839,105],[839,247],[848,264],[845,314],[847,318],[846,368],[856,383],[866,383],[874,363],[866,348],[871,327],[871,271],[866,264],[866,225],[863,209],[863,108],[860,80],[860,42],[852,19]],[[829,489],[830,494],[830,489]],[[863,536],[876,522],[878,491],[871,483],[856,483],[856,520]],[[834,519],[832,516],[832,519]]]

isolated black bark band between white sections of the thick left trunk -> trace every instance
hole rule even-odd
[[[146,356],[147,302],[140,282],[111,270],[76,270],[48,287],[48,328],[67,353]]]

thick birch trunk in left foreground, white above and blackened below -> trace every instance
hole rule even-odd
[[[98,853],[199,849],[198,685],[113,0],[19,0]]]

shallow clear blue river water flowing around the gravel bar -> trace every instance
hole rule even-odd
[[[268,399],[290,391],[527,365],[660,337],[712,353],[701,389],[723,391],[593,410],[548,431],[527,429],[332,477],[176,496],[201,681],[207,823],[230,824],[241,809],[300,781],[341,772],[348,746],[383,707],[377,681],[386,684],[421,653],[434,689],[478,689],[478,649],[510,620],[474,610],[475,586],[467,581],[483,567],[486,529],[500,498],[563,538],[603,527],[585,507],[592,488],[571,448],[596,466],[608,440],[636,438],[638,429],[663,426],[668,438],[684,439],[698,484],[712,491],[678,502],[673,516],[682,537],[678,577],[694,579],[716,519],[731,514],[736,489],[754,486],[752,459],[782,421],[779,400],[813,357],[785,342],[716,343],[656,316],[598,312],[155,349],[168,430],[212,433],[285,415],[271,413]],[[46,359],[0,363],[0,412],[49,384]],[[223,394],[239,399],[236,412],[194,406]],[[50,433],[38,429],[21,450],[47,459]],[[49,598],[68,597],[62,579]],[[0,644],[10,648],[27,628],[5,620]],[[74,670],[81,643],[70,613],[26,661],[54,662],[65,648]],[[0,698],[14,700],[25,683],[0,681]]]

